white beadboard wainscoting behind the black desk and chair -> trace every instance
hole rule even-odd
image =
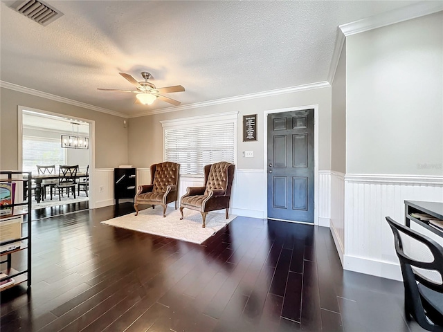
[[[443,201],[443,176],[345,176],[345,269],[401,280],[385,217],[404,223],[405,200]]]

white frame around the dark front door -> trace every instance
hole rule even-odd
[[[302,111],[304,109],[314,109],[314,225],[318,225],[318,104],[287,107],[286,109],[272,109],[264,111],[263,119],[263,169],[264,169],[264,219],[268,217],[268,114],[283,113],[291,111]],[[300,223],[299,221],[291,221]],[[311,223],[309,223],[311,225]]]

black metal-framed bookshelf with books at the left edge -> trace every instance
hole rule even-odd
[[[15,183],[15,185],[12,185]],[[0,291],[27,283],[28,291],[31,284],[31,172],[21,171],[0,171],[0,184],[3,188],[12,188],[12,200],[3,201],[0,207],[0,282],[6,282],[8,279],[14,279],[12,283],[6,283],[0,288]],[[27,186],[26,186],[27,185]],[[27,200],[21,201],[23,187],[28,190]],[[3,191],[3,194],[5,192]],[[21,194],[20,194],[21,193]],[[15,196],[15,197],[14,197]],[[17,203],[16,203],[17,202]],[[27,210],[23,208],[27,207]],[[7,212],[5,212],[7,211]],[[22,223],[23,217],[27,215],[27,234],[23,236]],[[28,257],[26,269],[16,270],[12,268],[12,259],[14,253],[25,251]]]

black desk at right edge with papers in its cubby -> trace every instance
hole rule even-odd
[[[410,221],[414,221],[434,234],[443,237],[442,228],[433,226],[428,221],[419,220],[411,215],[413,213],[424,213],[443,221],[443,202],[404,201],[404,205],[405,225],[407,227],[410,227]]]

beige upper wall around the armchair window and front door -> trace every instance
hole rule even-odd
[[[238,111],[237,117],[237,169],[263,169],[264,111],[318,104],[319,113],[319,169],[331,167],[331,88],[314,89],[274,95],[270,97],[217,104],[155,114],[129,119],[129,164],[134,167],[149,167],[163,161],[163,128],[161,120],[189,118],[215,113]],[[243,142],[243,116],[257,114],[257,141]],[[244,158],[242,151],[253,150],[254,158]]]

